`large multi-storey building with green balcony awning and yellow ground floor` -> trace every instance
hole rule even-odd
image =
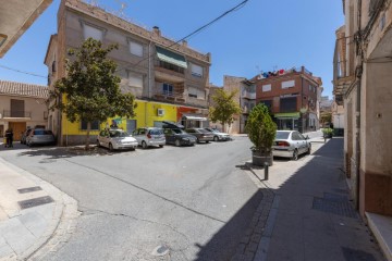
[[[185,126],[207,125],[209,53],[195,51],[186,41],[177,44],[162,36],[158,27],[148,30],[77,0],[60,3],[58,34],[51,37],[45,58],[50,88],[66,74],[66,51],[79,47],[88,37],[100,40],[103,46],[119,45],[109,59],[118,64],[121,90],[133,94],[137,103],[134,119],[110,119],[109,123],[97,123],[96,130],[110,121],[127,132],[142,126],[161,126],[162,121]],[[84,139],[84,123],[70,123],[58,111],[51,112],[49,120],[60,145]]]

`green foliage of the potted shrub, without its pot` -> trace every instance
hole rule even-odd
[[[277,132],[277,124],[272,121],[268,107],[259,103],[252,109],[246,122],[246,132],[254,150],[260,153],[270,153]]]

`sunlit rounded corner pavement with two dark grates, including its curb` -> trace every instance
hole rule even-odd
[[[0,260],[39,260],[74,228],[77,202],[0,158]]]

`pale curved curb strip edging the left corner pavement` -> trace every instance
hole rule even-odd
[[[42,190],[45,190],[56,202],[53,216],[46,232],[21,254],[15,256],[15,253],[12,253],[1,258],[0,261],[41,259],[46,253],[52,251],[54,247],[59,245],[52,244],[53,241],[63,241],[63,239],[66,240],[69,236],[71,236],[71,233],[74,231],[76,225],[76,219],[79,215],[79,212],[77,211],[77,201],[50,183],[7,162],[2,158],[0,158],[0,163],[35,182],[37,186],[40,186]]]

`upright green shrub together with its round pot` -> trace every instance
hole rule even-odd
[[[260,103],[250,111],[245,128],[254,144],[250,148],[252,163],[264,166],[267,162],[272,165],[272,145],[275,138],[277,124],[272,121],[265,104]]]

